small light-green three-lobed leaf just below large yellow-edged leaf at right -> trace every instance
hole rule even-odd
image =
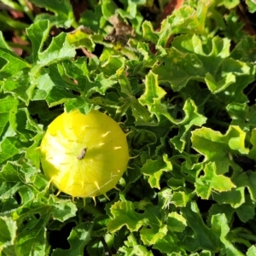
[[[209,199],[214,190],[222,192],[236,187],[229,177],[224,177],[224,175],[218,175],[216,173],[216,164],[214,162],[208,163],[204,168],[204,172],[204,176],[198,177],[195,180],[196,193],[202,199]]]

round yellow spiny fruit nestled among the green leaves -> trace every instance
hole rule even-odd
[[[115,188],[130,159],[119,124],[97,110],[62,113],[49,125],[40,151],[50,183],[83,198]]]

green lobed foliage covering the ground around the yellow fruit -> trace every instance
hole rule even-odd
[[[1,255],[256,255],[256,4],[176,3],[1,2]],[[130,132],[96,204],[40,164],[74,109]]]

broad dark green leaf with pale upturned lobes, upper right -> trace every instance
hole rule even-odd
[[[222,79],[218,73],[224,59],[230,55],[228,39],[215,37],[205,42],[199,36],[187,34],[175,38],[172,46],[166,50],[167,55],[160,58],[164,67],[154,67],[153,70],[160,75],[160,81],[170,82],[173,90],[180,90],[190,79],[206,79],[207,82],[210,77],[214,78],[212,84],[207,83],[214,93],[231,83],[231,78]]]

